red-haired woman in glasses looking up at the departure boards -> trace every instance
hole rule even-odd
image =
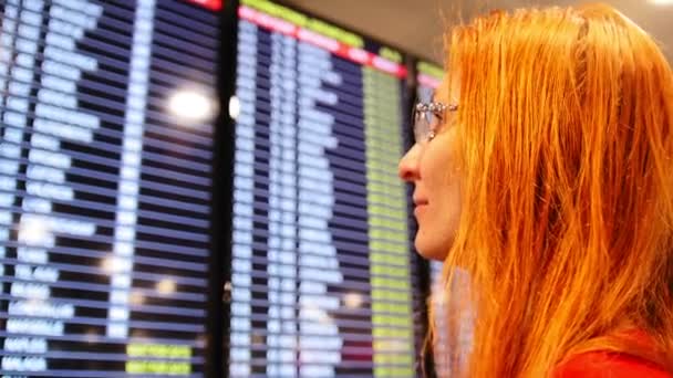
[[[452,376],[673,377],[673,74],[655,43],[608,6],[494,12],[448,42],[400,176],[418,252],[445,282],[469,274]]]

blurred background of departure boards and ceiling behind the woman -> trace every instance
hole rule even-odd
[[[0,375],[451,376],[397,162],[445,25],[531,4],[0,0]]]

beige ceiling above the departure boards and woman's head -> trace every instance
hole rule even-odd
[[[570,6],[577,0],[284,0],[286,4],[353,29],[418,57],[442,63],[442,33],[460,14],[469,19],[489,9]],[[673,4],[648,0],[603,0],[651,33],[673,61]],[[482,6],[475,6],[482,4]]]

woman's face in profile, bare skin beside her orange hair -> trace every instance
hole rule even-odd
[[[457,88],[454,82],[454,88]],[[435,93],[435,102],[457,103],[457,91],[447,80]],[[436,136],[416,143],[400,160],[400,177],[414,185],[414,217],[418,223],[415,246],[421,255],[444,260],[451,249],[460,218],[460,178],[456,165],[455,117],[448,111],[436,128]]]

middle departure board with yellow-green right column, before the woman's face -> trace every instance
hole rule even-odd
[[[415,375],[402,55],[238,8],[230,377]]]

